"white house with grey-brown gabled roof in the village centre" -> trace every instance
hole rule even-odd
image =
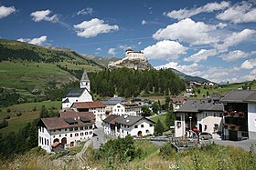
[[[109,115],[103,122],[105,135],[120,137],[154,135],[155,122],[143,116]]]

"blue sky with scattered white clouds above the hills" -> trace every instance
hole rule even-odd
[[[256,0],[0,0],[0,38],[123,58],[216,83],[256,79]]]

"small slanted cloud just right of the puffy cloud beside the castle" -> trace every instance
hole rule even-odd
[[[210,49],[210,50],[201,49],[197,54],[184,58],[184,61],[186,62],[193,61],[195,63],[198,63],[202,60],[207,60],[208,56],[213,56],[213,55],[217,55],[217,51],[215,49]]]

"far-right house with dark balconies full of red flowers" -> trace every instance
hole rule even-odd
[[[256,139],[256,91],[232,91],[220,102],[224,104],[223,139]]]

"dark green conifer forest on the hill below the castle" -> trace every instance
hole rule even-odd
[[[91,73],[91,90],[102,96],[178,95],[185,90],[185,81],[172,70],[138,71],[118,68]]]

